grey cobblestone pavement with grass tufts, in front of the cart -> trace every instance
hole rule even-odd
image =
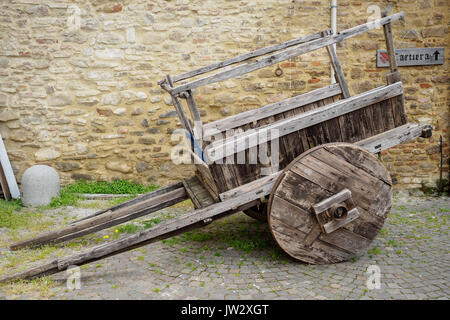
[[[239,213],[83,266],[79,290],[67,289],[65,273],[53,275],[51,298],[448,299],[449,207],[448,197],[395,199],[368,250],[334,265],[292,260],[265,224]],[[370,265],[380,268],[380,289],[366,285]]]

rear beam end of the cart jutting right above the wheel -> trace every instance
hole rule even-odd
[[[380,133],[370,138],[358,141],[356,145],[369,152],[378,153],[422,136],[422,133],[431,130],[428,124],[408,123],[395,129]]]

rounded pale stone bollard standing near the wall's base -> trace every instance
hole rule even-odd
[[[59,174],[46,165],[28,168],[22,176],[22,204],[26,207],[45,206],[59,196]]]

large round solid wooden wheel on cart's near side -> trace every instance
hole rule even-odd
[[[312,148],[275,182],[268,222],[278,245],[295,259],[325,264],[364,251],[392,205],[392,181],[368,151],[349,143]]]

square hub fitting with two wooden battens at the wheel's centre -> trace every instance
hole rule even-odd
[[[348,189],[316,203],[312,209],[324,233],[331,233],[359,217],[352,192]]]

